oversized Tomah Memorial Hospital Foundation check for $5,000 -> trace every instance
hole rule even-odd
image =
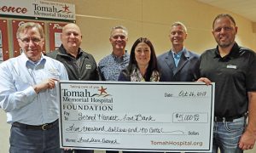
[[[61,148],[212,150],[214,83],[61,81]]]

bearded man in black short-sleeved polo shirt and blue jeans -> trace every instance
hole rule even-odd
[[[201,54],[198,80],[216,83],[212,152],[243,152],[256,139],[256,54],[235,42],[230,14],[218,14],[212,28],[218,46]]]

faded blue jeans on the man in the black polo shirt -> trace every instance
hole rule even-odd
[[[212,153],[242,153],[238,143],[246,126],[246,117],[233,122],[214,122]]]

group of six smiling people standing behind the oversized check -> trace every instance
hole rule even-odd
[[[236,43],[236,33],[233,17],[218,14],[212,23],[218,45],[198,55],[184,47],[187,28],[175,22],[169,33],[172,48],[157,57],[146,37],[139,37],[128,53],[128,31],[115,26],[109,37],[113,51],[96,65],[93,56],[80,48],[82,34],[76,24],[63,27],[61,47],[46,55],[42,54],[42,26],[32,22],[21,25],[16,37],[23,53],[0,65],[0,107],[12,125],[9,152],[93,152],[60,149],[55,88],[59,80],[215,82],[212,152],[253,149],[256,54]]]

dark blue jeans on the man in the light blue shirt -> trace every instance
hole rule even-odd
[[[9,144],[10,153],[61,153],[58,122],[45,131],[12,126]]]

